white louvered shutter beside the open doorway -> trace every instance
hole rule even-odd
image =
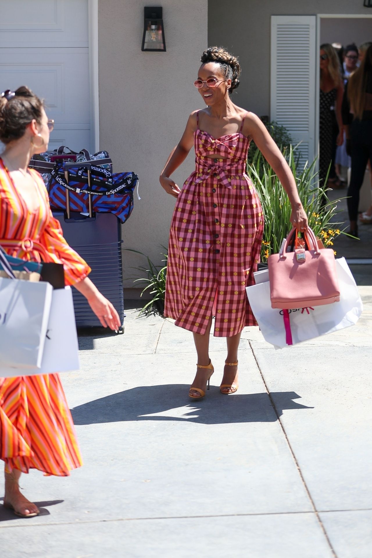
[[[300,165],[315,158],[316,16],[272,16],[270,118],[285,126]]]

